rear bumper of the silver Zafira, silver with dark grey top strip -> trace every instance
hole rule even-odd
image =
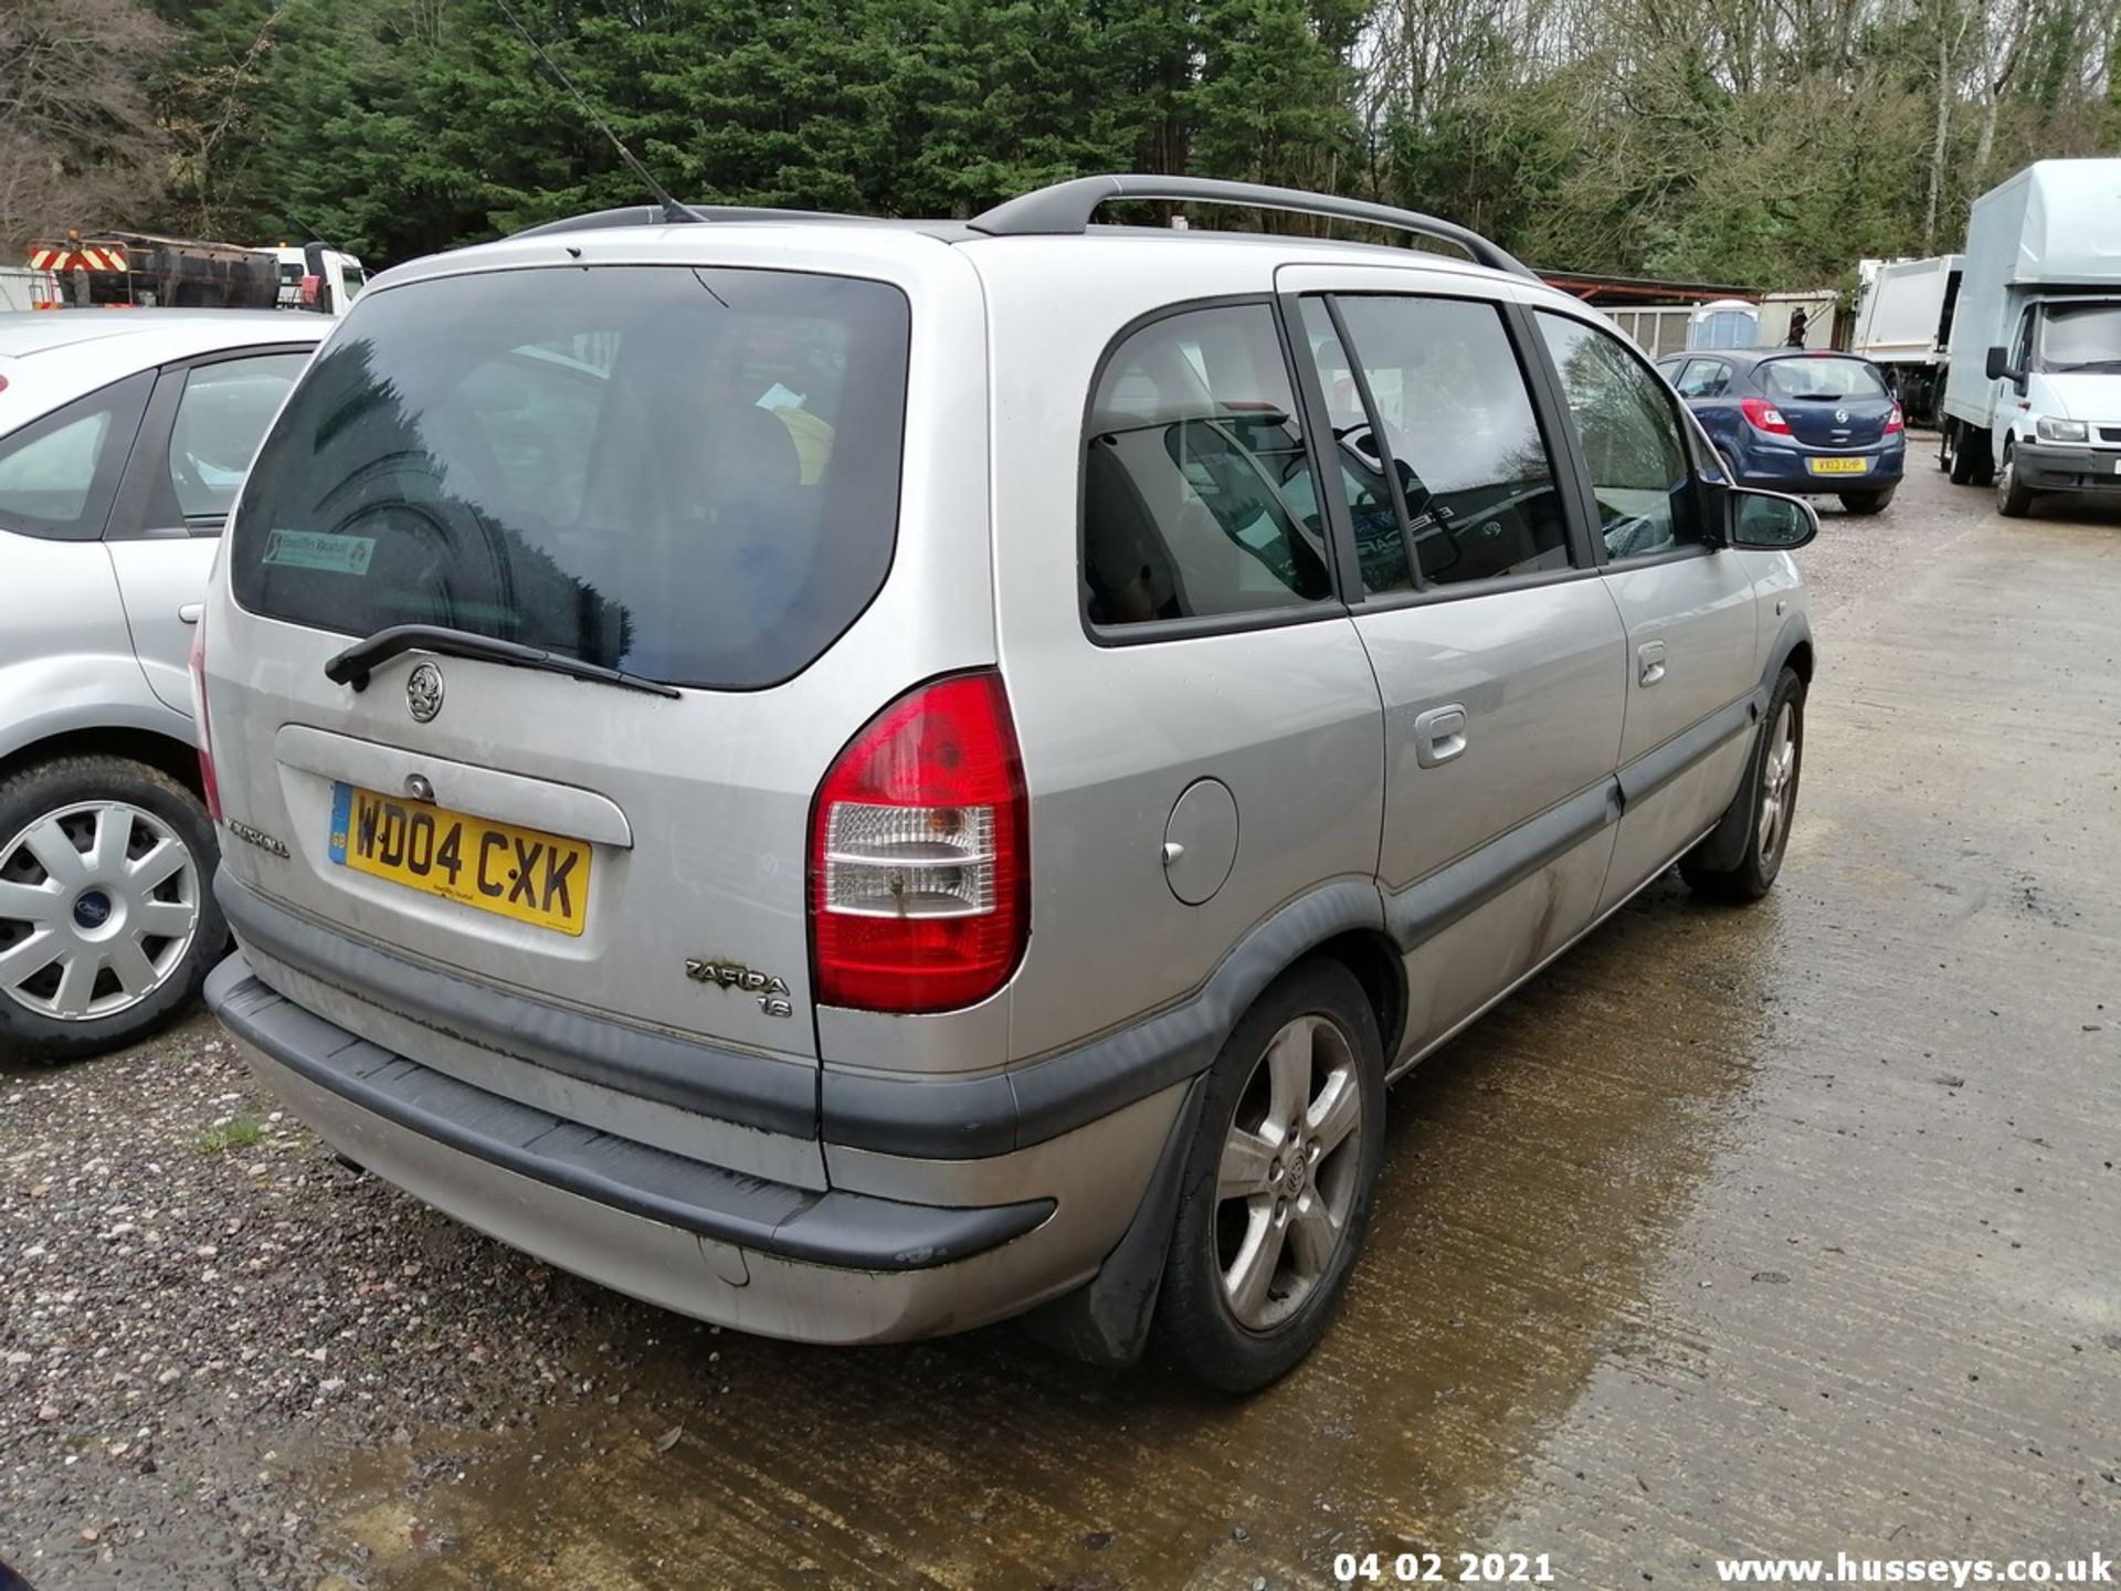
[[[1063,1177],[1035,1192],[1041,1167],[1133,1158],[1103,1156],[1101,1126],[1088,1126],[1052,1156],[1027,1156],[1027,1196],[1005,1203],[793,1188],[422,1067],[274,993],[242,955],[214,969],[206,999],[252,1071],[375,1175],[592,1281],[764,1336],[880,1343],[1020,1313],[1094,1275],[1150,1171],[1128,1190],[1107,1179],[1088,1194]],[[1164,1103],[1133,1112],[1154,1116]],[[1120,1137],[1141,1139],[1141,1126]],[[986,1179],[1016,1182],[993,1167]]]

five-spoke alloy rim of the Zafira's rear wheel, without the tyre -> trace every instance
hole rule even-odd
[[[1239,1090],[1215,1173],[1215,1269],[1245,1330],[1275,1330],[1330,1275],[1366,1126],[1349,1037],[1324,1016],[1283,1025]]]

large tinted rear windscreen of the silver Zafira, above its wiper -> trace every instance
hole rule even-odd
[[[774,685],[891,566],[906,350],[906,297],[838,276],[554,267],[363,295],[252,465],[235,600]]]

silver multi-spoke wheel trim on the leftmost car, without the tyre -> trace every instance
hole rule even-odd
[[[0,842],[0,997],[98,1022],[153,997],[199,929],[199,861],[129,802],[78,802]]]

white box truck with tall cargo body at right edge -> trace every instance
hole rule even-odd
[[[1975,199],[1939,465],[2009,515],[2121,501],[2121,159],[2038,161]]]

